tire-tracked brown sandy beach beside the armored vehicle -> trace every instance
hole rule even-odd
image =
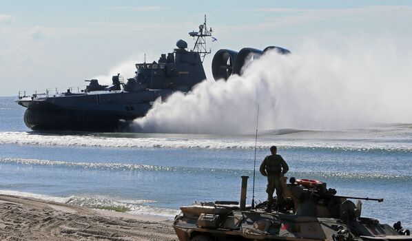
[[[177,240],[172,221],[0,195],[0,240]]]

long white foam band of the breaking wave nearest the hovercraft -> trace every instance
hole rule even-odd
[[[300,135],[300,136],[298,136]],[[369,136],[336,136],[338,134],[315,133],[308,136],[305,132],[293,132],[289,135],[261,136],[258,148],[278,145],[284,148],[310,147],[330,149],[387,149],[412,151],[412,143],[406,140],[388,138],[373,139],[376,134]],[[382,134],[380,134],[382,136]],[[410,133],[408,134],[410,135]],[[254,138],[251,136],[205,136],[205,135],[146,135],[142,137],[107,137],[80,135],[43,135],[28,132],[1,132],[0,144],[41,145],[65,147],[109,147],[109,148],[202,148],[202,149],[251,149],[254,148]],[[392,137],[392,136],[390,136]],[[340,139],[339,139],[340,138]],[[355,138],[351,140],[350,138]],[[365,139],[363,139],[365,138]]]

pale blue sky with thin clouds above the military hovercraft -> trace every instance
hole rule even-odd
[[[104,83],[117,72],[132,77],[145,54],[157,61],[178,39],[192,47],[187,33],[204,14],[218,39],[213,52],[278,45],[302,55],[302,43],[313,40],[337,52],[341,39],[359,49],[412,43],[412,1],[0,0],[0,96],[84,87],[96,77]],[[213,52],[204,63],[208,81]]]

